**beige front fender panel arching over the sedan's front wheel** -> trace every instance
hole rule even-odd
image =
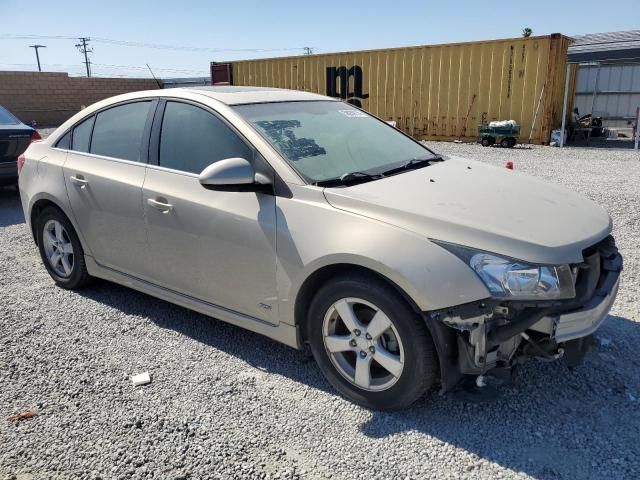
[[[295,324],[294,305],[300,287],[318,269],[337,264],[357,265],[380,274],[423,311],[489,297],[484,284],[464,262],[428,239],[335,209],[321,192],[317,201],[309,201],[304,196],[313,196],[316,190],[305,190],[295,192],[291,199],[278,199],[281,321]]]

